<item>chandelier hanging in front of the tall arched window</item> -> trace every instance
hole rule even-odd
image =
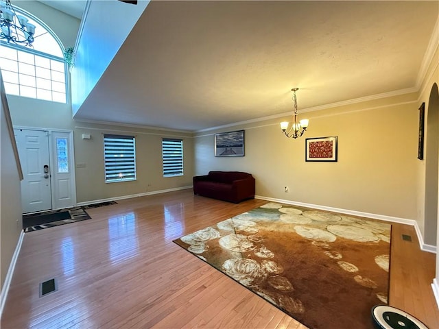
[[[35,25],[29,23],[25,16],[17,15],[10,0],[1,1],[0,11],[0,40],[31,47]]]

